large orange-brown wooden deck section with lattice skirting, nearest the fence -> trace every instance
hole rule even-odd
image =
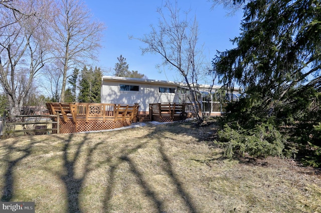
[[[50,114],[60,115],[60,132],[73,133],[128,126],[136,122],[138,105],[47,103]]]

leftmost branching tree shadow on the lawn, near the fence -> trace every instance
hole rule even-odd
[[[14,140],[12,143],[8,144],[5,146],[7,148],[7,153],[4,155],[5,159],[4,161],[7,163],[7,169],[6,173],[4,174],[5,178],[5,186],[2,190],[2,195],[1,195],[1,201],[11,201],[14,195],[14,174],[13,170],[16,167],[16,165],[28,157],[31,154],[31,149],[34,145],[34,142],[29,143],[26,147],[21,148],[20,146],[15,147],[17,143],[19,142],[19,139],[17,138]],[[12,154],[22,152],[23,154],[16,158],[15,160],[11,159]]]

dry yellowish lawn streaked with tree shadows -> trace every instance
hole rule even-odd
[[[0,195],[36,212],[321,212],[315,170],[224,159],[214,132],[184,122],[2,140]]]

